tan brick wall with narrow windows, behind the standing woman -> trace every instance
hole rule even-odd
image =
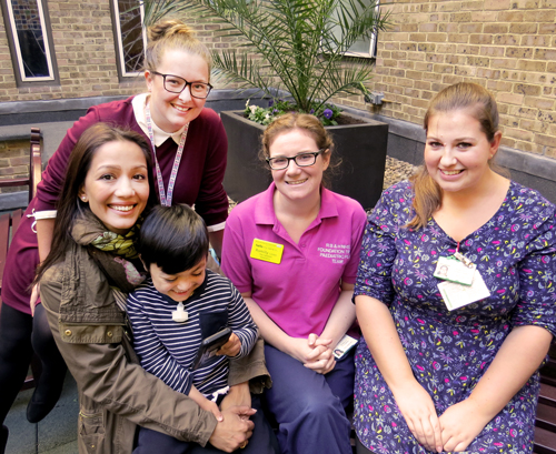
[[[48,8],[60,85],[16,85],[4,21],[1,18],[0,102],[127,95],[145,89],[142,75],[129,82],[120,82],[118,79],[109,0],[49,0]],[[215,38],[219,26],[207,21],[191,21],[191,26],[200,40],[210,48],[225,48],[235,43],[225,37]]]

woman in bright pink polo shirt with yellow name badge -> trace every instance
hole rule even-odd
[[[278,118],[262,148],[274,182],[231,211],[222,270],[266,342],[281,452],[350,454],[354,354],[332,352],[355,322],[365,211],[322,186],[332,141],[315,117]]]

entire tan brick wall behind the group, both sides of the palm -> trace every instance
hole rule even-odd
[[[503,144],[556,158],[556,0],[383,0],[393,28],[379,36],[373,90],[345,105],[420,124],[428,101],[444,87],[475,81],[492,90],[502,112]],[[142,78],[120,82],[109,0],[49,0],[60,87],[17,88],[0,21],[0,102],[132,94]],[[206,19],[190,20],[211,48],[237,44]],[[224,87],[217,84],[217,87]],[[375,110],[373,110],[375,109]]]

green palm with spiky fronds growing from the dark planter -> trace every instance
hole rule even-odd
[[[367,94],[374,61],[346,59],[359,39],[388,26],[377,0],[141,0],[146,26],[167,14],[211,17],[237,49],[214,53],[215,73],[240,89],[290,93],[296,110],[321,111],[340,93]],[[191,17],[191,16],[189,16]],[[258,57],[252,57],[252,56]]]

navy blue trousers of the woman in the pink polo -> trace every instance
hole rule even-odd
[[[355,350],[355,349],[354,349]],[[265,345],[272,387],[265,392],[268,411],[278,423],[282,454],[351,454],[351,424],[345,407],[354,397],[354,350],[326,374]]]

